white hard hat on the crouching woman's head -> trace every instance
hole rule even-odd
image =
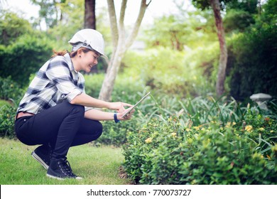
[[[94,29],[82,29],[77,31],[75,35],[68,41],[72,45],[72,50],[78,50],[81,47],[95,50],[104,55],[104,39],[101,33]],[[106,58],[107,56],[104,55]]]

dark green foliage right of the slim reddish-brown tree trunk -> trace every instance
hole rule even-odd
[[[277,15],[272,9],[276,2],[268,0],[256,23],[229,45],[230,94],[236,99],[243,100],[257,92],[277,96]]]

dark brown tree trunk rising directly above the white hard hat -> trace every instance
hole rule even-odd
[[[85,0],[85,28],[96,30],[95,0]]]

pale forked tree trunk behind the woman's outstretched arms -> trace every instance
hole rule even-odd
[[[116,75],[119,72],[121,60],[126,50],[134,43],[134,40],[139,33],[139,27],[141,26],[141,21],[143,19],[145,11],[148,5],[151,3],[150,1],[148,4],[146,4],[146,0],[141,0],[139,16],[138,18],[136,18],[136,23],[134,23],[131,34],[128,36],[128,38],[126,38],[124,28],[124,16],[127,1],[128,0],[122,0],[119,17],[119,27],[117,27],[114,1],[107,0],[109,9],[109,21],[112,30],[113,53],[111,61],[109,62],[107,74],[104,78],[104,82],[99,93],[99,99],[102,99],[104,101],[111,101],[112,99],[112,90],[114,89],[114,82],[116,80]]]

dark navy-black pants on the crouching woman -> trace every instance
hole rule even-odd
[[[102,124],[85,119],[84,114],[85,107],[63,102],[16,119],[16,136],[27,145],[50,144],[53,158],[65,158],[70,146],[86,144],[102,134]]]

